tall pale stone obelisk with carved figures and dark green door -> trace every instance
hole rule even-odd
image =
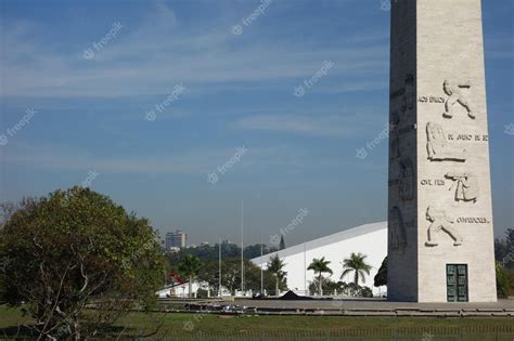
[[[493,302],[480,0],[391,12],[388,298]]]

